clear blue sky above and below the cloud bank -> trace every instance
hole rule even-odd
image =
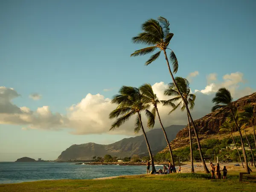
[[[0,86],[21,95],[12,101],[18,107],[35,111],[47,105],[65,114],[87,93],[111,98],[122,85],[168,83],[163,55],[148,67],[144,63],[149,55],[130,57],[143,47],[131,43],[141,24],[163,16],[174,33],[170,46],[180,64],[177,75],[199,71],[192,90],[204,89],[209,73],[221,80],[237,71],[244,74],[246,86],[255,89],[255,9],[253,0],[0,1]],[[34,92],[42,99],[29,99]],[[128,137],[22,127],[0,125],[0,160],[23,154],[55,159],[74,143],[103,144]],[[35,154],[38,151],[41,154]]]

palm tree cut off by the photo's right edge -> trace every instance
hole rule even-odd
[[[245,126],[252,124],[253,125],[253,137],[254,137],[254,143],[255,143],[255,148],[256,148],[256,136],[255,136],[255,126],[254,126],[254,121],[255,121],[255,113],[256,113],[256,108],[255,105],[246,105],[244,106],[244,111],[240,113],[240,120],[241,123],[243,123]]]

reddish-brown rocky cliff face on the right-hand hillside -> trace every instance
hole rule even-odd
[[[241,108],[244,105],[256,105],[256,93],[253,93],[249,96],[244,96],[233,102],[234,105],[241,111]],[[223,112],[217,114],[218,111],[209,113],[203,116],[201,119],[195,120],[195,125],[198,130],[198,134],[216,134],[218,133],[219,127],[226,120],[226,117],[229,114],[229,110],[226,108]],[[192,129],[193,130],[193,129]],[[192,135],[195,135],[194,131],[192,131]],[[177,133],[176,138],[180,137],[189,137],[188,126],[186,128],[180,130]]]

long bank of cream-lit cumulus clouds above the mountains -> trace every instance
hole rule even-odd
[[[245,83],[243,74],[236,72],[226,74],[222,77],[222,81],[218,82],[217,74],[209,74],[207,82],[211,81],[202,90],[195,90],[196,95],[195,108],[192,111],[194,119],[201,118],[211,111],[212,98],[220,87],[228,88],[234,99],[253,93],[252,88],[240,88]],[[164,90],[168,85],[164,82],[157,82],[152,85],[154,93],[160,100],[170,99],[165,96]],[[45,129],[60,130],[68,128],[71,134],[125,134],[134,135],[135,117],[122,125],[119,129],[109,131],[113,119],[109,119],[109,113],[116,108],[111,104],[111,99],[105,98],[101,94],[92,95],[88,93],[80,102],[67,108],[65,115],[60,113],[52,113],[49,106],[43,106],[35,111],[29,108],[17,107],[12,100],[17,98],[19,94],[12,88],[0,87],[0,124],[23,125],[23,130],[29,129]],[[169,125],[186,125],[186,113],[180,110],[168,115],[172,108],[158,106],[160,116],[164,126]],[[143,124],[146,128],[146,117],[143,114]],[[160,127],[158,119],[156,119],[155,128]]]

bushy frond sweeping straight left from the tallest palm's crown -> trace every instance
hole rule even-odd
[[[138,36],[132,38],[134,44],[155,45],[159,41],[159,38],[147,32],[142,32]]]

